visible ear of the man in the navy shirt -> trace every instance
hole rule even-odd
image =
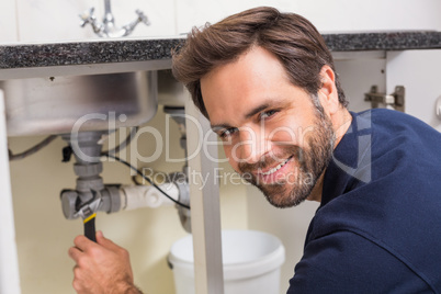
[[[335,114],[339,108],[338,92],[336,87],[336,74],[328,66],[325,65],[320,70],[321,87],[318,90],[318,97],[321,105],[328,115]]]

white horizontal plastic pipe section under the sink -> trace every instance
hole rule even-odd
[[[160,184],[159,188],[174,200],[179,199],[178,186],[173,183]],[[127,185],[122,186],[122,208],[132,211],[140,207],[157,208],[172,205],[173,202],[166,197],[152,185]]]

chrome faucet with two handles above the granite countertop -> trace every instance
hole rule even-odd
[[[129,35],[135,30],[135,26],[140,22],[146,25],[150,25],[150,22],[148,21],[144,12],[137,9],[136,14],[138,14],[138,18],[135,21],[124,25],[123,27],[116,27],[115,18],[112,14],[110,2],[110,0],[104,0],[105,11],[102,23],[97,20],[94,8],[91,8],[89,11],[80,14],[81,27],[84,27],[88,23],[90,23],[92,25],[93,32],[100,37],[123,37]]]

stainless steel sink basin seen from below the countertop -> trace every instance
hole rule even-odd
[[[8,136],[137,126],[158,109],[157,71],[0,81]]]

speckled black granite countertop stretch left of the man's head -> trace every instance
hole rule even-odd
[[[184,38],[0,45],[0,69],[171,59]]]

